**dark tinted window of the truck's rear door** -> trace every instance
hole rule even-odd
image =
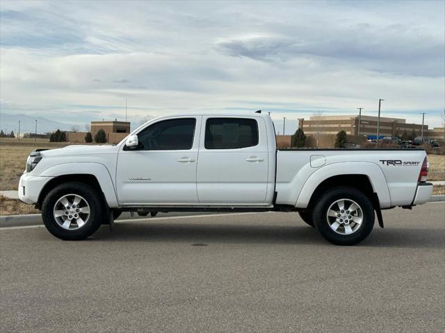
[[[236,149],[257,146],[255,119],[209,118],[206,123],[206,149]]]

